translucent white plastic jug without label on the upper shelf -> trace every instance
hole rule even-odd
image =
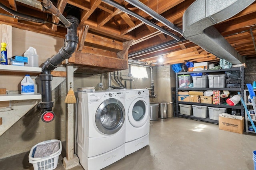
[[[25,66],[38,67],[38,55],[36,49],[29,47],[27,51],[25,51],[24,57],[28,57],[28,64],[25,64]]]

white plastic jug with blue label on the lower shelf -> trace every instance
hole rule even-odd
[[[21,94],[34,94],[35,93],[35,84],[29,74],[21,81]]]

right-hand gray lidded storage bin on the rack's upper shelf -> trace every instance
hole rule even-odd
[[[225,88],[226,74],[208,75],[209,88]]]

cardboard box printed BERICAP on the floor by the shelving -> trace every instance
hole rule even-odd
[[[244,131],[244,117],[240,119],[231,119],[228,117],[219,116],[219,129],[243,134]]]

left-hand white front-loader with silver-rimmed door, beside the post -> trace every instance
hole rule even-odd
[[[125,156],[124,91],[76,92],[75,152],[85,170]]]

